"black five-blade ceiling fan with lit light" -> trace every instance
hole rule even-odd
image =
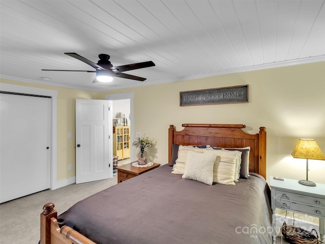
[[[109,61],[110,56],[107,54],[98,55],[100,60],[98,61],[97,64],[93,63],[92,61],[88,60],[87,58],[84,58],[74,52],[65,52],[64,54],[67,54],[69,56],[77,58],[80,61],[86,63],[87,65],[90,65],[91,67],[95,68],[96,70],[92,70],[92,71],[89,71],[89,70],[44,70],[44,71],[75,71],[75,72],[96,73],[96,78],[93,80],[93,83],[110,82],[113,80],[113,76],[125,78],[125,79],[131,79],[131,80],[144,81],[144,80],[146,80],[146,78],[135,76],[135,75],[124,74],[122,72],[155,66],[155,64],[152,61],[148,61],[148,62],[142,62],[142,63],[136,63],[136,64],[130,64],[130,65],[121,65],[121,66],[114,67],[111,64],[111,62]]]

